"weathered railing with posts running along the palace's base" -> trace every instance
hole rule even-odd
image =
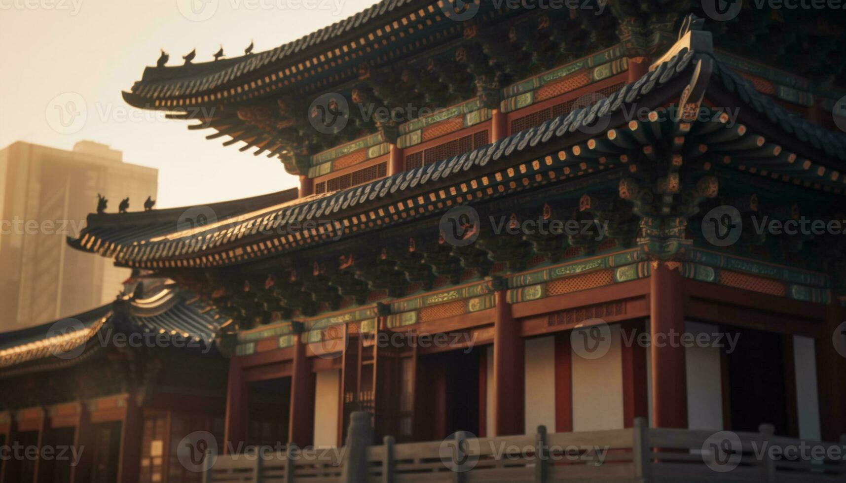
[[[355,431],[355,424],[341,448],[300,453],[288,447],[265,458],[219,456],[204,482],[846,481],[846,440],[805,442],[817,454],[838,458],[779,456],[772,447],[798,449],[803,443],[773,436],[768,425],[758,433],[733,433],[733,451],[716,453],[707,450],[713,431],[648,428],[643,419],[617,431],[547,434],[540,426],[534,435],[465,438],[457,433],[448,442],[394,444],[387,436],[375,446],[365,446],[364,438],[356,441],[355,435],[366,431]]]

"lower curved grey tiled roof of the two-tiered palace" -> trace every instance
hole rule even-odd
[[[371,222],[371,226],[373,225],[372,221],[376,219],[374,211],[371,210],[379,211],[378,206],[390,209],[392,207],[385,205],[385,203],[393,203],[401,196],[403,199],[407,199],[406,202],[413,203],[412,200],[415,200],[415,197],[431,192],[433,189],[441,189],[446,185],[455,186],[467,181],[470,176],[492,173],[494,169],[500,168],[497,166],[500,162],[521,151],[530,151],[536,146],[546,145],[547,143],[552,145],[556,141],[557,144],[552,146],[554,149],[559,149],[563,145],[582,142],[584,141],[582,138],[585,137],[584,132],[589,131],[589,129],[584,128],[594,123],[597,118],[611,118],[613,116],[622,123],[623,116],[620,111],[624,106],[634,107],[639,102],[640,106],[637,107],[654,108],[662,106],[662,104],[646,105],[643,98],[650,94],[654,95],[658,91],[662,91],[662,96],[665,99],[669,99],[670,96],[677,96],[684,87],[684,82],[688,79],[684,78],[677,81],[676,78],[683,72],[692,72],[691,65],[695,63],[695,59],[704,58],[701,56],[705,55],[710,54],[700,54],[697,57],[695,52],[684,50],[659,64],[656,69],[645,74],[640,80],[624,85],[623,88],[606,99],[584,108],[575,109],[566,115],[548,120],[534,128],[508,136],[492,145],[368,184],[339,190],[320,197],[297,200],[277,210],[262,211],[260,215],[255,217],[244,217],[239,222],[231,223],[225,227],[225,230],[214,228],[206,232],[191,233],[174,231],[168,235],[168,239],[159,240],[129,239],[128,237],[116,239],[113,236],[114,228],[112,226],[92,224],[83,230],[80,239],[70,240],[70,243],[82,250],[114,257],[118,264],[127,266],[148,268],[220,266],[233,264],[245,258],[299,250],[307,244],[322,243],[327,239],[332,239],[336,233],[351,233],[349,226],[339,221],[341,217],[346,217],[343,220],[344,223],[349,222],[349,220],[358,220],[362,229],[370,229],[365,228],[364,225],[365,218],[368,222]],[[714,92],[722,96],[725,96],[726,93],[731,96],[739,96],[740,102],[753,107],[755,110],[754,116],[750,115],[749,110],[741,112],[744,122],[748,121],[750,125],[755,124],[768,129],[778,126],[779,129],[783,130],[783,134],[779,134],[780,137],[775,137],[773,140],[779,143],[782,142],[782,138],[785,138],[786,141],[789,141],[787,138],[799,140],[799,143],[795,143],[799,147],[796,152],[803,156],[819,154],[821,157],[831,158],[829,161],[835,162],[846,159],[844,157],[846,156],[846,149],[843,149],[846,146],[846,136],[822,129],[790,113],[784,107],[772,102],[769,97],[755,91],[749,81],[743,80],[738,74],[734,74],[731,69],[721,68],[716,59],[714,59],[713,65],[715,66],[715,74],[711,74],[711,78],[717,78],[719,84],[722,85],[722,90],[710,87],[708,89],[709,95]],[[673,86],[667,87],[670,84]],[[737,101],[731,100],[731,102],[725,105],[738,105]],[[639,123],[639,121],[631,121],[631,123]],[[561,140],[566,140],[565,144],[562,144]],[[600,142],[607,141],[600,140]],[[814,153],[813,151],[818,152]],[[740,154],[744,153],[741,152]],[[805,162],[810,163],[807,160]],[[489,164],[490,166],[488,166]],[[829,166],[828,169],[831,170],[832,168],[837,168],[837,165]],[[832,173],[832,182],[838,181],[839,173],[837,171],[829,171],[829,173]],[[508,181],[508,179],[504,181],[491,180],[490,186],[496,187],[497,184],[506,184]],[[838,184],[842,181],[843,178],[840,178]],[[837,192],[840,192],[840,189]],[[422,197],[417,199],[422,200]],[[368,213],[368,211],[370,212]],[[426,215],[428,214],[427,212]],[[418,216],[413,210],[408,210],[403,215],[402,219]],[[398,221],[396,214],[393,215],[393,220],[389,220],[389,217],[383,214],[379,214],[378,217],[386,222]],[[286,240],[285,237],[271,239],[269,236],[265,236],[266,233],[279,233],[280,231],[289,233],[286,227],[292,222],[301,224],[315,220],[327,220],[331,223],[322,226],[321,231],[316,232],[311,237],[288,236]],[[253,245],[252,252],[250,252],[250,247],[244,249],[246,239],[259,240]],[[229,254],[224,250],[228,250]],[[234,255],[232,255],[233,252],[235,252]],[[216,254],[222,254],[222,258],[217,257]]]

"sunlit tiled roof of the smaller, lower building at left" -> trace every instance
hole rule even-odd
[[[107,327],[127,327],[132,332],[157,332],[211,344],[222,319],[216,310],[179,289],[164,286],[148,299],[119,298],[77,316],[36,327],[0,333],[0,367],[44,360],[54,354],[79,350],[80,359],[102,344],[94,339]],[[78,349],[87,344],[85,349]],[[177,344],[173,344],[177,347]],[[61,357],[62,360],[69,359]]]

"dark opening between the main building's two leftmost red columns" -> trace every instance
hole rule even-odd
[[[288,442],[291,378],[250,382],[247,444],[276,446]]]

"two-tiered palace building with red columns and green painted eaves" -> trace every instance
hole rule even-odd
[[[300,180],[93,214],[69,240],[220,316],[229,454],[206,478],[440,481],[424,442],[468,431],[620,451],[491,457],[458,480],[839,480],[836,458],[756,460],[749,442],[846,433],[843,234],[771,228],[843,220],[842,26],[459,4],[383,0],[270,51],[162,59],[124,93]],[[734,472],[709,468],[715,431],[742,442]],[[348,453],[268,469],[233,451],[275,442]],[[140,480],[181,481],[141,461]]]

